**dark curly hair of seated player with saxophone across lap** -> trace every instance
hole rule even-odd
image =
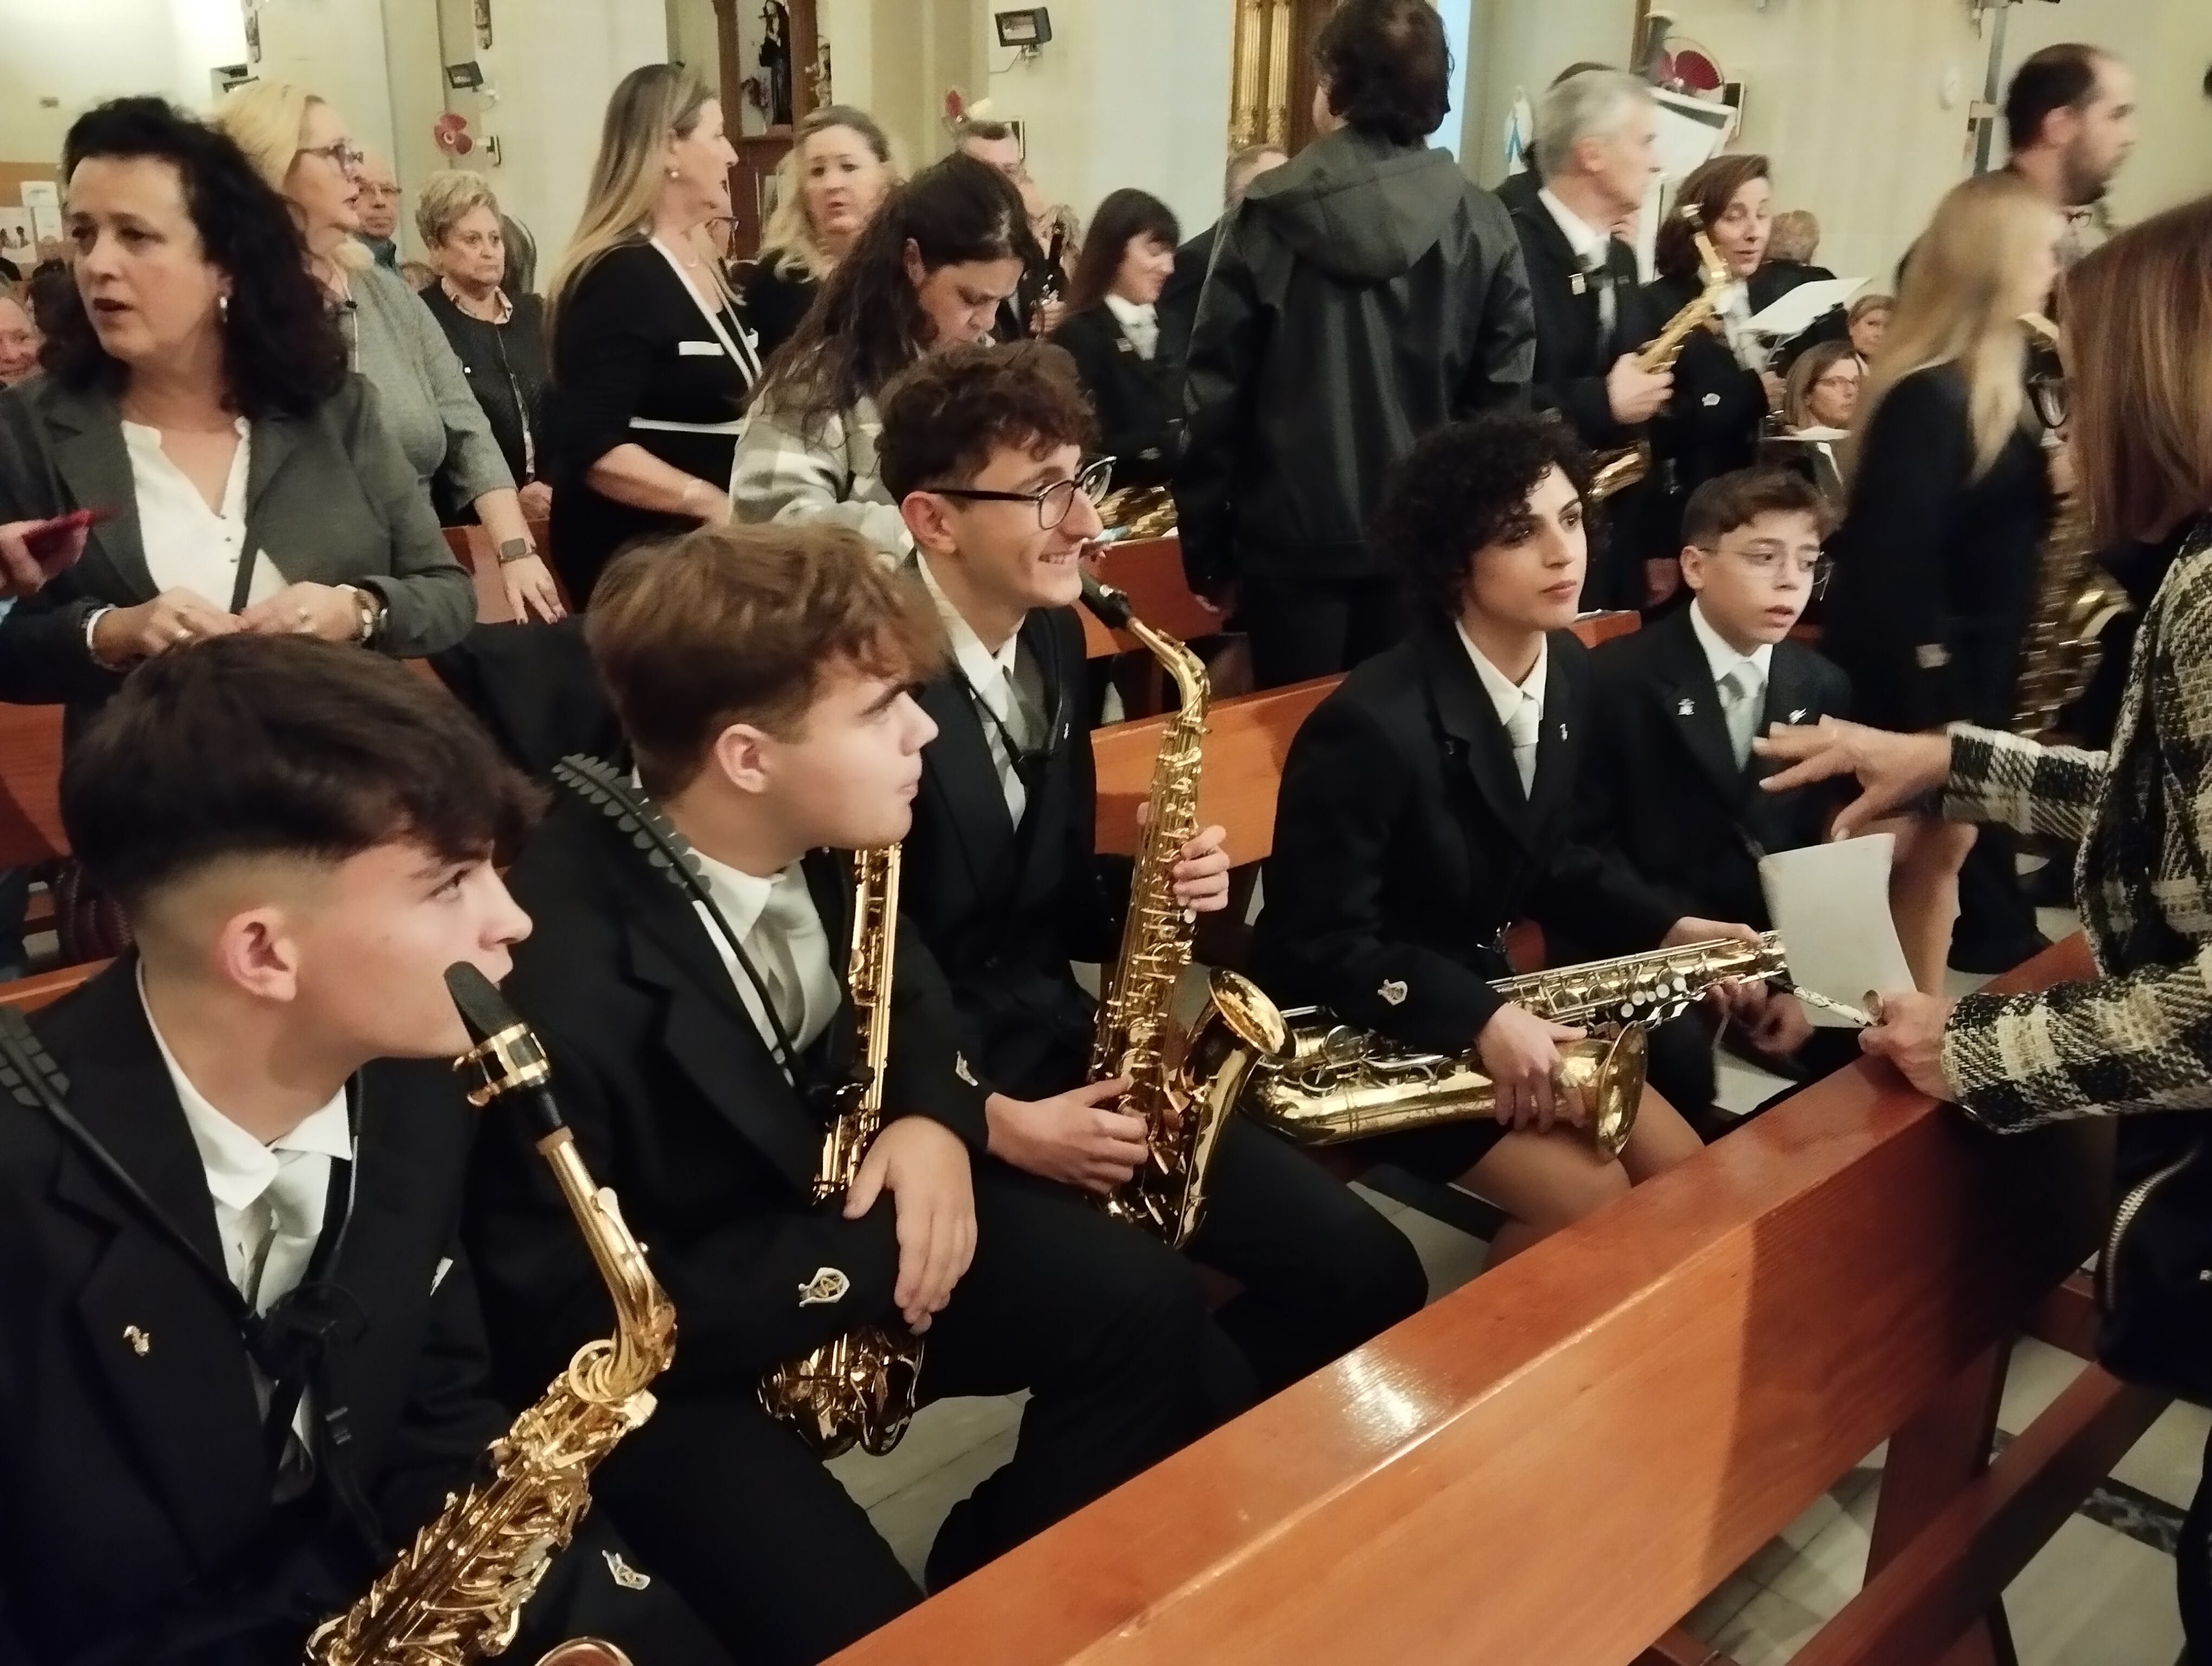
[[[1475,551],[1498,542],[1553,469],[1584,502],[1590,454],[1555,416],[1493,412],[1422,434],[1391,469],[1367,544],[1398,569],[1420,617],[1460,617]]]

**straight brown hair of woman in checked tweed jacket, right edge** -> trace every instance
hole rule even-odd
[[[2066,274],[2070,442],[2097,538],[2212,511],[2212,197],[2132,226]]]

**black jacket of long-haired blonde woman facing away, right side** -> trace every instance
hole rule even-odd
[[[1860,436],[1851,507],[1829,540],[1823,615],[1823,646],[1849,673],[1860,721],[2011,728],[2051,516],[2051,476],[2026,425],[1973,478],[1966,378],[1953,365],[1889,392]]]

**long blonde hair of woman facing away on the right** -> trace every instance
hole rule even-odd
[[[2037,246],[2048,246],[2055,221],[2057,210],[2011,173],[1966,179],[1936,206],[1858,392],[1847,471],[1856,473],[1882,400],[1898,383],[1933,365],[1958,365],[1966,378],[1973,478],[1989,473],[2026,414],[2028,339],[2020,314],[2042,305],[2042,296],[2022,294],[2020,274]]]

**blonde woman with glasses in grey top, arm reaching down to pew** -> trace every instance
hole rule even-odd
[[[345,117],[305,88],[248,82],[223,97],[215,126],[292,204],[307,241],[307,270],[330,296],[354,369],[376,389],[383,420],[429,500],[476,509],[498,544],[515,617],[557,619],[560,591],[522,520],[515,478],[467,372],[422,299],[358,241],[363,153],[347,137]]]

